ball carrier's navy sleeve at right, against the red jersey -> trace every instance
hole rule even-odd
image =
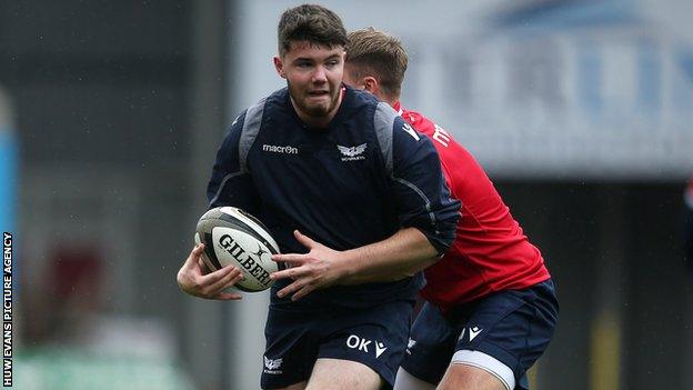
[[[419,229],[444,253],[454,240],[461,203],[450,194],[431,140],[399,116],[392,128],[392,180],[401,226]]]

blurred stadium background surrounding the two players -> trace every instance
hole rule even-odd
[[[268,296],[197,300],[175,272],[224,127],[282,86],[275,24],[297,3],[0,3],[16,388],[258,388]],[[562,311],[535,389],[693,389],[693,3],[320,3],[402,38],[404,104],[542,249]]]

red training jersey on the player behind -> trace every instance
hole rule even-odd
[[[419,112],[402,110],[399,102],[394,109],[433,141],[448,187],[462,202],[454,242],[424,270],[426,284],[421,296],[446,311],[495,291],[524,289],[551,278],[541,252],[474,157]]]

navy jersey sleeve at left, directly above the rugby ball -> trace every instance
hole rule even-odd
[[[212,176],[207,186],[209,208],[233,206],[250,213],[257,211],[257,189],[245,168],[245,162],[242,161],[245,156],[241,156],[241,148],[239,148],[245,113],[241,113],[231,123],[217,152]]]

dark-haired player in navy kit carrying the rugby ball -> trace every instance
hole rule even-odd
[[[258,217],[288,253],[275,260],[292,266],[274,273],[261,384],[391,387],[422,286],[416,270],[449,249],[460,202],[431,140],[342,84],[346,31],[334,12],[291,8],[278,36],[273,61],[287,88],[233,121],[208,186],[210,207]],[[181,268],[181,289],[238,298],[220,296],[238,271],[202,274],[199,256]]]

